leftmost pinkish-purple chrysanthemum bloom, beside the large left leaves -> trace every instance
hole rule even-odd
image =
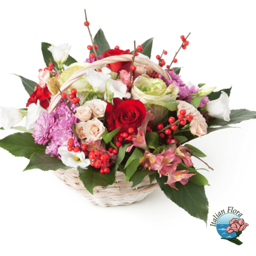
[[[52,137],[52,128],[55,123],[54,113],[42,113],[35,123],[32,137],[35,138],[35,143],[45,145]]]

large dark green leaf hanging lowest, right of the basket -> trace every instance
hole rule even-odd
[[[168,184],[164,184],[166,181],[167,176],[162,175],[160,178],[159,174],[157,174],[157,183],[160,189],[166,194],[167,198],[171,199],[193,217],[199,218],[207,224],[208,200],[205,195],[204,186],[191,182],[188,182],[186,185],[176,182],[177,190],[173,189]]]

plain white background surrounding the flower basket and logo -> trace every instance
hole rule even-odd
[[[183,81],[218,90],[233,85],[230,108],[256,111],[255,6],[253,1],[5,1],[2,3],[0,88],[4,107],[26,107],[28,94],[12,73],[38,81],[45,64],[41,42],[70,43],[70,55],[88,58],[90,37],[99,26],[111,45],[132,49],[154,37],[153,60],[163,49],[170,62],[180,35],[190,44],[175,66]],[[22,172],[29,160],[0,148],[0,255],[252,255],[255,248],[256,120],[192,141],[215,171],[202,173],[211,186],[209,219],[191,217],[156,189],[143,201],[123,207],[90,205],[52,172]],[[0,131],[0,138],[14,131]],[[195,166],[205,168],[194,159]],[[233,206],[249,224],[237,246],[221,240],[212,215]]]

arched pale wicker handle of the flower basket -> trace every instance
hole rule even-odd
[[[88,70],[94,70],[102,65],[105,64],[112,64],[118,61],[132,61],[133,60],[133,55],[131,54],[125,54],[125,55],[116,55],[116,56],[111,56],[111,57],[107,57],[104,58],[102,60],[99,61],[94,61],[92,64],[90,64],[87,67],[82,68],[81,70],[78,70],[76,73],[74,73],[72,76],[70,76],[70,78],[61,86],[60,90],[61,93],[66,92],[69,87],[76,82],[78,79],[80,79],[82,76],[84,76]],[[140,58],[138,56],[136,56],[134,58],[134,61],[139,63],[139,64],[143,64],[143,65],[147,65],[152,67],[157,73],[159,73],[160,75],[162,75],[165,79],[167,80],[171,80],[172,78],[169,75],[168,72],[166,72],[166,70],[164,70],[163,68],[161,68],[159,65],[157,65],[156,63],[154,63],[151,60],[145,59],[145,58]],[[49,105],[49,113],[52,113],[53,111],[55,111],[55,109],[57,108],[58,102],[61,100],[61,93],[58,92],[55,97],[52,99],[50,105]]]

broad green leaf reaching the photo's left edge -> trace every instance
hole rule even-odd
[[[6,149],[15,157],[30,158],[33,153],[45,155],[44,151],[46,145],[39,145],[35,143],[35,139],[30,133],[11,134],[0,140],[0,147]]]

